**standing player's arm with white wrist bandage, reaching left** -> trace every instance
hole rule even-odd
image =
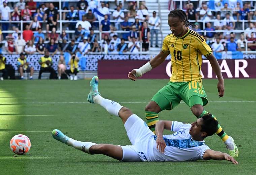
[[[162,50],[156,55],[152,60],[147,62],[145,65],[140,67],[139,69],[133,69],[131,72],[128,73],[128,78],[135,81],[138,77],[141,77],[146,72],[154,69],[166,59],[169,53],[164,53]]]

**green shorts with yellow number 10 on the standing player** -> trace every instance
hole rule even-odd
[[[195,96],[195,98],[191,98],[192,96]],[[181,102],[181,100],[183,100],[189,107],[192,107],[195,104],[205,106],[208,103],[208,98],[203,85],[197,81],[170,81],[151,99],[151,101],[158,104],[161,110],[172,110]]]

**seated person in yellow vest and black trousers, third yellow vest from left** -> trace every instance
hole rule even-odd
[[[44,53],[45,53],[44,56],[42,56],[40,58],[40,60],[38,61],[39,64],[41,65],[38,79],[41,79],[41,76],[42,76],[43,72],[50,72],[50,77],[49,78],[50,79],[55,79],[56,72],[52,68],[52,65],[53,65],[52,58],[49,56],[49,51],[48,50],[45,50]]]

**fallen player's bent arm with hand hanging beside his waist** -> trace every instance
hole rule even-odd
[[[159,152],[164,153],[164,149],[166,147],[166,143],[163,139],[163,131],[165,130],[171,130],[171,124],[172,121],[166,121],[166,120],[160,120],[156,123],[156,149],[159,150]]]

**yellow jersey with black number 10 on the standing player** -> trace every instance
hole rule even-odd
[[[202,54],[205,57],[212,54],[205,39],[190,29],[180,38],[173,34],[167,35],[163,40],[162,51],[171,54],[173,82],[201,82]]]

